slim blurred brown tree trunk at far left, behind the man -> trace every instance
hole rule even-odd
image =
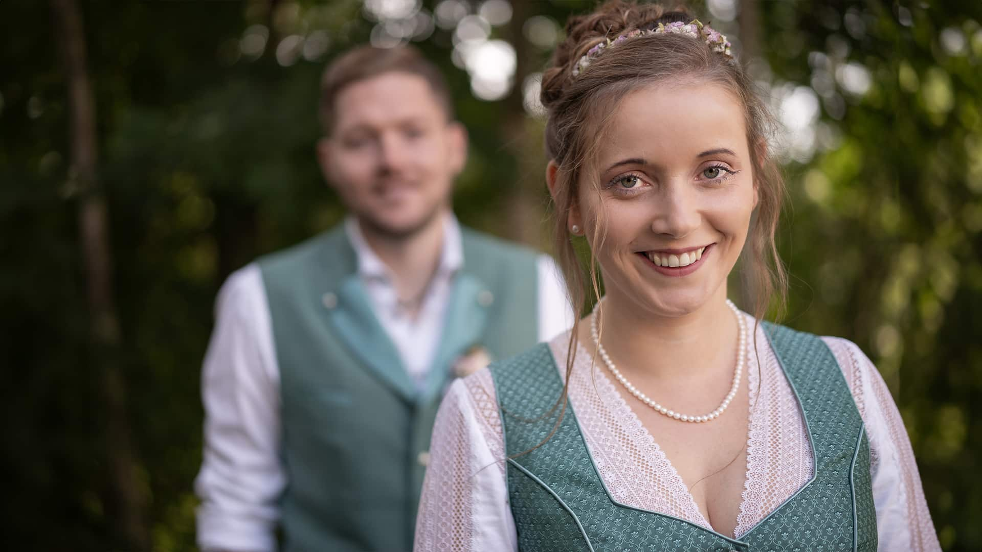
[[[108,459],[109,518],[130,550],[147,550],[145,498],[136,483],[126,385],[119,367],[120,325],[113,303],[112,254],[108,207],[97,182],[95,101],[85,60],[82,13],[76,0],[51,0],[61,41],[70,117],[69,178],[79,196],[79,234],[90,316],[90,347],[105,401],[105,446]]]

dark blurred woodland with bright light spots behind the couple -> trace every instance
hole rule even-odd
[[[411,41],[445,68],[471,140],[459,217],[547,248],[536,75],[591,6],[0,2],[0,541],[194,548],[215,294],[340,220],[313,144],[349,46]],[[786,321],[874,359],[944,547],[982,549],[982,2],[693,7],[787,129]]]

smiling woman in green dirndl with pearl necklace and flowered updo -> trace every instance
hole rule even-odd
[[[416,549],[939,550],[870,361],[760,322],[786,286],[783,183],[726,37],[610,2],[570,21],[542,86],[574,307],[597,272],[605,295],[452,387]],[[741,252],[752,315],[727,300]]]

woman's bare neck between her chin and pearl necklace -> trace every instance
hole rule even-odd
[[[652,313],[616,292],[608,293],[599,311],[600,340],[628,379],[633,375],[700,381],[733,369],[738,327],[726,304],[726,287],[697,309],[678,316]],[[586,329],[584,343],[592,344],[589,324],[582,326]]]

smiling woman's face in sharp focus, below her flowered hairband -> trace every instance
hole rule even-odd
[[[679,316],[725,298],[757,204],[736,98],[715,84],[649,85],[611,123],[599,181],[580,177],[569,221],[585,231],[608,299]],[[598,225],[606,238],[595,244]]]

